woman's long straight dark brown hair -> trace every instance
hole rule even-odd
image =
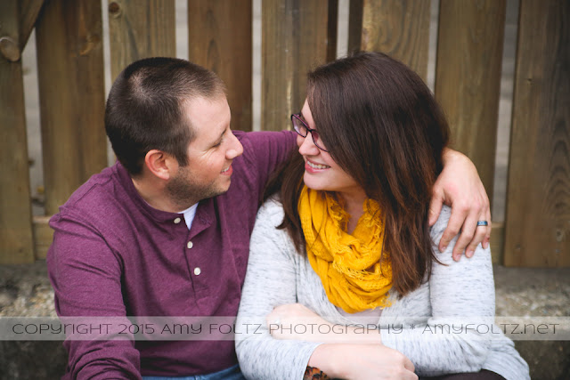
[[[379,203],[393,287],[408,294],[436,260],[428,209],[449,140],[444,113],[416,73],[383,53],[357,53],[314,69],[307,101],[330,156]],[[305,244],[297,211],[304,170],[296,150],[265,192],[265,198],[281,192],[280,228],[299,252]]]

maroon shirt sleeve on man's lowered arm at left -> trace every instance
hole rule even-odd
[[[55,215],[50,225],[55,232],[47,268],[58,315],[95,317],[94,323],[103,320],[97,317],[118,317],[112,319],[111,328],[123,319],[129,323],[121,292],[121,264],[101,234],[69,215]],[[140,354],[133,340],[76,339],[77,335],[68,335],[64,343],[70,378],[141,378]]]

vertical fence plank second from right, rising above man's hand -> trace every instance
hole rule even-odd
[[[436,99],[452,148],[471,158],[493,194],[506,0],[441,0]]]

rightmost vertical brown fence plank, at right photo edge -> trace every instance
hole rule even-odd
[[[570,265],[570,2],[522,0],[505,264]]]

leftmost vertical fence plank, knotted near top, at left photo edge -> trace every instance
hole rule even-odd
[[[19,16],[18,0],[0,2],[0,38],[4,38],[0,42],[0,264],[34,260],[20,54],[15,56],[16,61],[4,55],[6,48],[19,52]]]

